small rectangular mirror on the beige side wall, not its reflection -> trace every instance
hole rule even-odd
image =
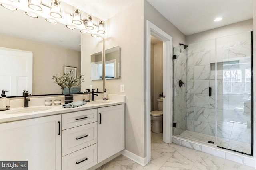
[[[120,77],[120,47],[114,47],[105,51],[105,78]]]

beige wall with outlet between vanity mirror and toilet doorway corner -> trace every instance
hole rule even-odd
[[[109,94],[125,94],[125,149],[144,158],[143,1],[108,20],[105,49],[120,46],[120,79],[105,80]],[[124,93],[120,92],[124,84]]]

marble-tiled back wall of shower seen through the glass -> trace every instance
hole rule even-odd
[[[240,89],[242,96],[225,92],[227,89],[223,82],[224,66],[222,62],[239,60],[241,70],[250,69],[250,38],[247,36],[248,39],[244,40],[244,37],[246,36],[234,35],[217,39],[217,50],[215,50],[215,39],[189,44],[186,55],[186,130],[212,136],[216,134],[215,62],[217,62],[217,137],[232,138],[231,132],[234,123],[228,121],[250,122],[250,101],[241,102],[241,99],[246,96],[242,93],[250,91],[250,82],[243,84]],[[234,68],[231,66],[228,69]],[[242,76],[243,78],[244,76]],[[246,82],[245,78],[242,82]],[[208,94],[209,86],[212,87],[211,97]],[[244,108],[244,111],[236,112],[235,110],[239,108]],[[237,136],[233,137],[233,140],[235,138],[245,139]]]

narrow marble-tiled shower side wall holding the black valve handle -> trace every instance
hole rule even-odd
[[[175,47],[173,50],[177,59],[173,60],[173,121],[177,123],[174,128],[174,134],[180,135],[186,130],[186,51],[181,47]],[[179,87],[179,80],[185,83],[185,86]]]

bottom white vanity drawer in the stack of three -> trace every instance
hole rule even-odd
[[[62,170],[86,170],[98,163],[97,143],[62,157]]]

